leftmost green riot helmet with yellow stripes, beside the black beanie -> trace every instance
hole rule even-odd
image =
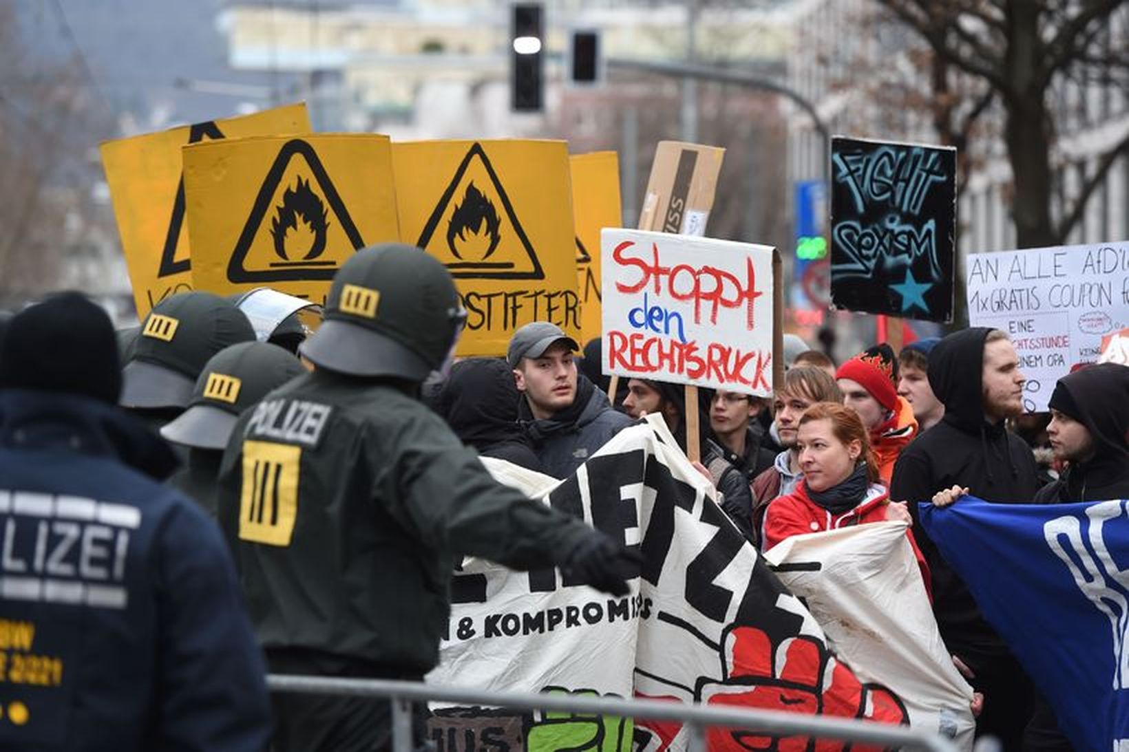
[[[192,399],[204,364],[229,344],[254,342],[255,330],[233,303],[211,292],[181,292],[158,303],[141,322],[122,369],[120,404],[160,428]]]

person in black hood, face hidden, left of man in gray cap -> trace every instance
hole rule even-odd
[[[505,360],[467,358],[450,369],[432,408],[463,444],[474,447],[483,457],[544,472],[517,425],[520,399],[514,373]]]

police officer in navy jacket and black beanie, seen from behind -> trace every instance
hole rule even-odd
[[[120,374],[110,318],[76,292],[0,348],[0,749],[263,750],[227,548],[160,484],[176,460],[116,406]]]

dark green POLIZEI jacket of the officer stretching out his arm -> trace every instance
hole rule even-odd
[[[593,531],[495,481],[423,404],[316,371],[235,426],[219,522],[264,648],[438,661],[456,557],[552,566]]]

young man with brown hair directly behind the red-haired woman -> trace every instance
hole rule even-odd
[[[772,466],[753,479],[752,526],[754,543],[762,540],[764,510],[778,496],[796,490],[803,473],[796,437],[799,417],[816,402],[842,402],[842,392],[834,379],[815,366],[793,366],[784,375],[784,388],[773,396],[777,432],[785,449],[776,456]]]

